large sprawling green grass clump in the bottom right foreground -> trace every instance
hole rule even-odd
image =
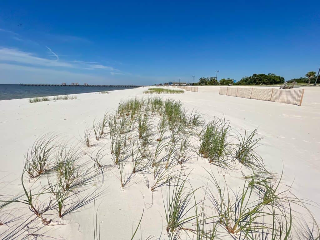
[[[291,239],[288,238],[293,226],[291,206],[306,207],[288,190],[280,191],[281,178],[270,184],[269,174],[258,174],[256,179],[254,171],[250,181],[246,180],[239,191],[230,191],[225,180],[221,187],[209,172],[218,192],[210,196],[217,212],[213,218],[217,218],[228,233],[241,233],[247,237],[245,239]]]

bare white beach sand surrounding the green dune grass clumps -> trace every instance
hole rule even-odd
[[[100,120],[106,111],[114,114],[121,100],[135,97],[147,98],[148,95],[143,94],[143,91],[147,89],[148,87],[140,87],[111,91],[108,94],[77,94],[76,100],[50,100],[37,103],[29,103],[27,99],[0,101],[0,134],[2,136],[0,138],[0,198],[8,200],[9,196],[19,195],[22,195],[21,199],[26,198],[23,196],[24,191],[21,185],[24,156],[41,134],[54,132],[59,134],[58,138],[61,141],[79,144],[85,129],[92,127],[94,119]],[[182,94],[149,94],[149,96],[181,100],[188,112],[196,109],[203,113],[206,123],[214,116],[225,117],[230,121],[231,135],[237,131],[243,133],[244,129],[252,132],[258,128],[258,137],[263,139],[260,142],[261,146],[256,148],[256,152],[263,159],[266,169],[275,174],[281,174],[283,170],[281,189],[288,189],[291,186],[292,194],[310,203],[307,204],[308,209],[320,223],[320,208],[317,205],[320,204],[318,181],[320,172],[319,87],[305,87],[301,106],[219,95],[218,86],[199,86],[198,92],[185,91]],[[104,170],[102,186],[92,181],[84,186],[87,190],[81,192],[78,198],[94,193],[96,190],[95,194],[98,196],[95,200],[95,207],[94,202],[91,201],[76,208],[63,218],[59,218],[57,211],[52,207],[54,197],[50,194],[38,195],[42,200],[39,200],[36,205],[42,209],[46,206],[51,208],[43,214],[44,218],[52,220],[46,226],[29,210],[26,204],[9,204],[0,209],[0,220],[4,213],[8,214],[7,219],[12,219],[8,224],[0,226],[1,239],[13,239],[14,237],[15,239],[35,239],[32,238],[35,237],[35,234],[43,235],[39,236],[39,239],[46,239],[45,236],[50,236],[47,239],[51,237],[94,239],[94,231],[97,229],[100,232],[100,239],[130,239],[139,223],[143,209],[144,214],[134,239],[147,239],[149,236],[155,236],[153,239],[158,239],[160,236],[160,239],[169,239],[164,211],[169,187],[160,187],[152,192],[146,186],[143,173],[138,173],[134,174],[127,185],[122,188],[119,171],[111,165],[110,136],[106,134],[97,141],[92,135],[92,141],[95,142],[95,146],[91,148],[79,144],[81,153],[83,153],[82,163],[89,161],[92,153],[105,148],[106,155],[102,162],[108,167]],[[88,171],[90,169],[93,171],[92,163],[86,164],[86,167]],[[127,167],[132,168],[132,165],[125,168]],[[177,169],[179,168],[180,166]],[[209,171],[214,174],[222,186],[225,180],[229,188],[235,192],[240,191],[244,185],[241,171],[244,173],[247,171],[244,167],[226,170],[209,164],[207,159],[200,156],[192,157],[183,165],[182,170],[186,175],[191,171],[188,176],[188,184],[190,184],[188,187],[192,186],[193,189],[196,189],[208,184],[209,173],[207,171]],[[42,187],[48,184],[47,178],[43,176],[39,180],[28,179],[25,176],[24,181],[27,190],[31,188],[34,194],[45,191]],[[209,182],[209,186],[212,193],[215,194],[212,183]],[[204,198],[204,192],[204,188],[196,191],[195,196],[198,200]],[[50,200],[52,200],[51,204]],[[143,203],[145,203],[145,208]],[[211,201],[207,200],[206,205],[210,203]],[[190,203],[190,207],[192,204]],[[294,212],[296,216],[299,217],[299,214],[305,216],[305,220],[312,227],[308,212],[299,207],[295,210],[293,207],[292,211],[297,211]],[[98,213],[94,212],[94,208],[98,209]],[[98,223],[96,229],[94,221]],[[26,226],[18,227],[23,224]],[[211,227],[208,225],[208,228]],[[17,231],[16,235],[12,231]],[[228,231],[221,226],[217,232],[219,233],[217,239],[232,239]],[[192,234],[190,239],[192,239]]]

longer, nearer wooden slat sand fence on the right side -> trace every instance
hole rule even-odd
[[[220,87],[219,94],[301,106],[304,89]]]

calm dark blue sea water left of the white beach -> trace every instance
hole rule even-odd
[[[67,95],[85,92],[102,92],[128,89],[127,87],[76,87],[76,86],[21,86],[0,84],[0,100]]]

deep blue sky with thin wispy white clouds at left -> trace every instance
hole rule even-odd
[[[0,83],[192,82],[215,70],[218,79],[289,80],[320,67],[319,9],[318,1],[1,1]]]

